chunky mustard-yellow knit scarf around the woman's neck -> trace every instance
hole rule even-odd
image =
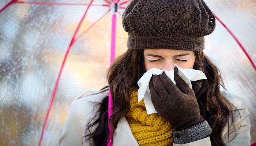
[[[173,127],[158,114],[147,114],[144,101],[138,103],[138,89],[131,89],[131,109],[126,119],[140,146],[172,146]]]

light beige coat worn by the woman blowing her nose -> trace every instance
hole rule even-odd
[[[90,95],[83,96],[86,93],[92,92]],[[90,143],[85,142],[84,133],[88,121],[95,115],[93,102],[101,102],[103,97],[108,96],[108,89],[102,91],[89,90],[72,102],[69,110],[67,121],[64,125],[63,134],[59,140],[60,146],[90,146]],[[227,146],[249,146],[250,145],[250,120],[249,112],[246,103],[239,97],[226,94],[225,97],[233,103],[241,115],[236,118],[235,128],[230,129],[229,133],[234,134],[234,130],[240,130],[235,139],[227,143]],[[239,117],[236,111],[236,116]],[[228,128],[223,130],[222,134],[224,142],[228,141]],[[231,138],[231,136],[229,136]],[[113,146],[139,146],[136,139],[133,137],[132,131],[125,117],[123,117],[117,125],[116,135],[114,135]],[[173,146],[211,146],[210,137],[199,141],[187,143],[184,145],[174,144]]]

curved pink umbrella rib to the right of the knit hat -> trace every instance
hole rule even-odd
[[[245,55],[247,56],[247,58],[249,59],[249,61],[251,62],[252,66],[254,67],[254,69],[256,70],[256,65],[253,62],[251,56],[248,54],[248,52],[245,50],[244,46],[241,44],[241,42],[237,39],[237,37],[233,34],[233,32],[221,21],[221,19],[219,19],[216,14],[214,14],[215,18],[226,28],[226,30],[229,32],[229,34],[234,38],[234,40],[237,42],[237,44],[240,46],[240,48],[244,51]]]

